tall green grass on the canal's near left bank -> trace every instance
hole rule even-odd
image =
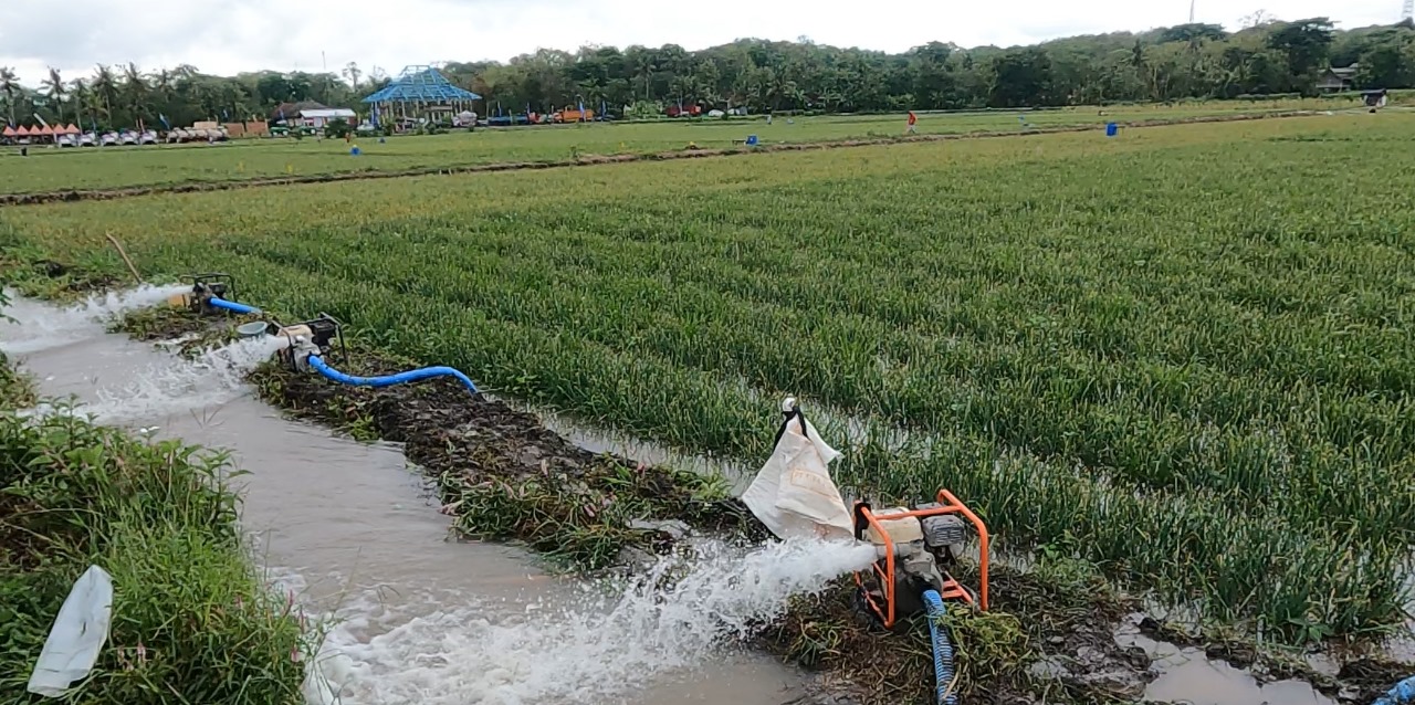
[[[316,636],[253,573],[225,457],[13,413],[30,402],[0,369],[0,702],[42,702],[25,684],[89,565],[113,579],[112,626],[64,702],[303,702]]]

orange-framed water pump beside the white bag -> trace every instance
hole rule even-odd
[[[884,629],[900,619],[927,610],[924,592],[944,600],[962,600],[988,609],[988,527],[948,490],[935,501],[913,510],[874,511],[855,503],[855,538],[869,541],[880,558],[870,569],[855,573],[860,606]],[[968,539],[968,525],[978,535],[978,592],[964,588],[949,575]]]

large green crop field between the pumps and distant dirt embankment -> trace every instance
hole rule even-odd
[[[1269,636],[1368,636],[1407,619],[1415,542],[1412,127],[154,195],[7,208],[0,246],[122,272],[112,232],[147,272],[232,272],[255,303],[751,463],[798,395],[838,446],[853,429],[843,486],[947,486],[1009,548]]]

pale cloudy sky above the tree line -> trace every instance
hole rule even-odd
[[[0,0],[0,65],[35,85],[57,67],[142,69],[192,64],[205,72],[331,69],[357,61],[389,74],[408,64],[507,59],[539,47],[681,44],[739,37],[901,51],[927,41],[1015,45],[1071,34],[1179,24],[1189,0]],[[395,7],[398,10],[395,10]],[[1339,27],[1399,20],[1401,0],[1197,0],[1196,18],[1235,28],[1266,10],[1283,20],[1327,16]],[[323,55],[321,55],[323,52]]]

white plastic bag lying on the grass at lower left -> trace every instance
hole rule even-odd
[[[91,565],[64,599],[59,616],[50,629],[40,660],[30,674],[30,692],[47,698],[62,697],[74,681],[88,677],[98,654],[108,641],[113,616],[113,579]]]

